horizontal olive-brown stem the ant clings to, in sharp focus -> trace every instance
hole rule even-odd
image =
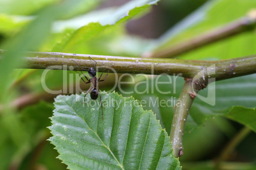
[[[1,52],[1,50],[0,50]],[[3,52],[3,51],[2,51]],[[1,54],[1,53],[0,53]],[[113,69],[117,73],[131,74],[178,74],[181,77],[193,78],[202,68],[214,67],[215,74],[211,78],[229,79],[241,75],[256,73],[256,55],[233,58],[229,60],[201,61],[169,58],[133,58],[122,56],[78,55],[69,53],[27,52],[26,65],[23,69],[83,69],[94,65],[89,56],[97,61],[99,72]],[[1,56],[1,55],[0,55]],[[66,67],[64,67],[66,65]],[[49,68],[52,66],[52,68]],[[68,67],[69,66],[69,67]],[[72,67],[70,67],[72,66]],[[113,72],[110,70],[110,72]]]

